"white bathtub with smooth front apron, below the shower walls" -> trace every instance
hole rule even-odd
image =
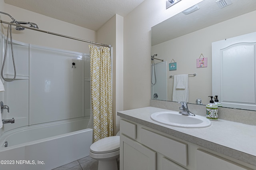
[[[87,124],[88,119],[72,119],[5,132],[0,138],[0,170],[51,170],[88,156],[92,129]]]

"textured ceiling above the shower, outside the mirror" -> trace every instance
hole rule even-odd
[[[38,14],[97,31],[112,16],[126,16],[144,0],[4,0]]]

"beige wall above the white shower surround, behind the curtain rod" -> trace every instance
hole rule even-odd
[[[66,36],[71,36],[75,38],[80,38],[83,40],[88,40],[96,42],[96,32],[80,26],[69,24],[48,16],[44,16],[35,12],[24,10],[16,6],[5,4],[4,0],[0,0],[0,10],[10,14],[17,21],[24,22],[34,22],[38,25],[40,30],[45,30],[48,32],[54,32],[58,34],[63,34]],[[1,19],[6,22],[11,22],[11,18],[7,15],[0,14]],[[4,34],[6,35],[7,24],[2,24],[4,26]],[[14,40],[32,43],[34,45],[42,45],[46,47],[66,49],[69,51],[77,51],[83,53],[89,53],[88,45],[89,43],[80,42],[77,40],[71,40],[68,38],[62,38],[59,36],[54,36],[42,32],[37,32],[34,30],[25,29],[23,31],[12,31],[12,36]]]

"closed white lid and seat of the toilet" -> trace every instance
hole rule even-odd
[[[120,136],[110,136],[94,142],[90,151],[94,154],[106,154],[118,151],[120,147]]]

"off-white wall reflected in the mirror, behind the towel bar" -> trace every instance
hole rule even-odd
[[[169,75],[196,73],[196,77],[189,77],[189,103],[195,103],[196,99],[201,98],[203,104],[206,105],[210,101],[208,96],[216,95],[212,94],[212,42],[255,32],[256,23],[252,22],[255,16],[256,11],[250,12],[154,45],[152,53],[157,53],[167,63],[170,63],[172,59],[177,62],[177,70],[169,71],[168,69],[168,77]],[[201,53],[207,57],[208,66],[196,68],[196,59]],[[167,81],[168,101],[172,101],[173,78],[168,78]]]

